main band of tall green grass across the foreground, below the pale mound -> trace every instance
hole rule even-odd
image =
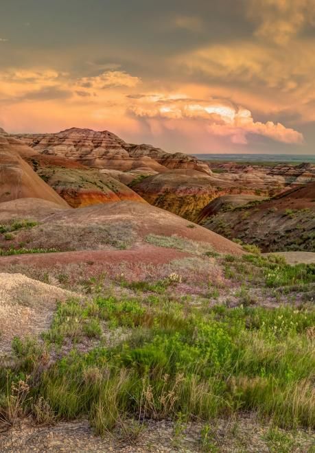
[[[100,338],[103,322],[113,332],[132,328],[130,336],[80,353],[76,343]],[[42,398],[54,419],[87,416],[100,434],[127,415],[211,421],[240,411],[314,428],[314,324],[310,308],[202,312],[167,301],[70,300],[58,305],[43,345],[14,340],[19,360],[0,370],[0,395],[8,401],[12,383],[27,379],[29,397]],[[69,353],[49,364],[47,355],[69,340]],[[29,398],[23,406],[32,412]]]

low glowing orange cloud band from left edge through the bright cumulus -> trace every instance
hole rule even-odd
[[[135,91],[139,84],[141,95]],[[19,127],[25,124],[23,130],[29,124],[36,124],[38,130],[43,130],[44,124],[49,130],[54,130],[54,124],[62,124],[62,128],[113,127],[115,131],[130,127],[141,133],[147,124],[152,135],[161,135],[165,129],[183,134],[185,128],[187,134],[195,136],[202,131],[207,137],[222,137],[230,143],[246,144],[252,134],[281,143],[303,142],[300,132],[281,123],[255,121],[250,110],[213,99],[202,86],[182,86],[178,91],[161,93],[152,93],[149,88],[141,78],[124,71],[73,79],[53,69],[10,69],[0,73],[0,101],[2,98],[5,102],[2,126],[9,124],[8,129],[14,130],[19,117]],[[67,102],[62,101],[66,97]],[[21,119],[21,115],[27,117]]]

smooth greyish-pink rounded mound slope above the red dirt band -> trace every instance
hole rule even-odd
[[[23,203],[19,208],[25,212]],[[0,204],[0,218],[1,209]],[[3,209],[7,211],[6,206]],[[0,247],[19,248],[23,243],[28,248],[56,248],[58,251],[143,248],[150,234],[176,235],[209,244],[218,252],[242,253],[240,246],[212,231],[147,203],[130,201],[56,211],[31,229],[14,231],[9,241],[0,235]]]

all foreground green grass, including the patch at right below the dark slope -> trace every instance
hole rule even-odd
[[[0,418],[88,417],[98,434],[126,417],[173,419],[174,442],[184,421],[204,421],[205,449],[217,446],[213,420],[238,413],[272,422],[270,451],[291,442],[279,428],[314,429],[315,307],[259,307],[250,289],[311,287],[315,266],[277,255],[216,258],[242,283],[237,307],[211,305],[222,294],[209,281],[205,303],[175,297],[173,274],[120,281],[120,297],[95,277],[89,297],[58,303],[40,341],[14,339],[15,357],[0,367]]]

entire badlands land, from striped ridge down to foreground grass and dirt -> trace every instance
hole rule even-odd
[[[0,131],[1,452],[310,451],[315,183],[213,170]]]

